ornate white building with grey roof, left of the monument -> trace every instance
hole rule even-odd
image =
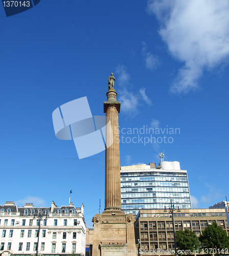
[[[54,202],[51,207],[0,205],[0,254],[31,255],[38,246],[42,255],[85,255],[83,209],[83,204],[58,207]]]

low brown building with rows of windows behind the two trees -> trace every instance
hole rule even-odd
[[[173,218],[175,231],[190,229],[199,236],[208,224],[216,221],[229,233],[224,209],[181,209],[180,212],[175,210]],[[169,210],[165,212],[163,209],[142,209],[136,216],[134,226],[136,242],[139,241],[139,251],[145,252],[141,255],[155,255],[155,253],[150,253],[153,249],[158,249],[157,255],[174,254],[170,253],[175,247],[173,223]]]

